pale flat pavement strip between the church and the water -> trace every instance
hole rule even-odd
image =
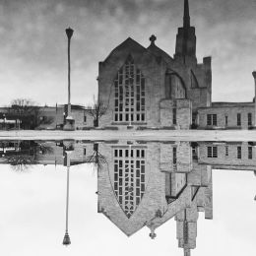
[[[254,141],[253,130],[0,131],[0,140]]]

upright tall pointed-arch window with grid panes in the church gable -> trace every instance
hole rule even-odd
[[[131,55],[114,80],[114,121],[145,122],[145,77]]]

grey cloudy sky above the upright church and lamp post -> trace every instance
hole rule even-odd
[[[190,0],[197,57],[213,57],[213,100],[250,101],[256,69],[256,0]],[[180,0],[0,0],[0,105],[18,97],[38,104],[67,101],[67,37],[71,102],[91,104],[98,62],[128,36],[171,56],[182,25]]]

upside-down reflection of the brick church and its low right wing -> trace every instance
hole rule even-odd
[[[199,213],[213,219],[212,167],[256,170],[252,143],[122,141],[98,147],[107,162],[98,171],[98,213],[128,236],[148,226],[152,238],[174,218],[184,255],[196,247]]]

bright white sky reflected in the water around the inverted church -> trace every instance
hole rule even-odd
[[[251,171],[213,170],[214,220],[200,213],[197,247],[191,255],[255,255],[255,176]],[[237,187],[239,189],[237,189]],[[92,164],[71,166],[69,234],[64,247],[66,167],[34,165],[25,172],[1,164],[0,254],[5,256],[183,255],[173,219],[127,237],[97,214]],[[237,200],[238,198],[238,200]]]

